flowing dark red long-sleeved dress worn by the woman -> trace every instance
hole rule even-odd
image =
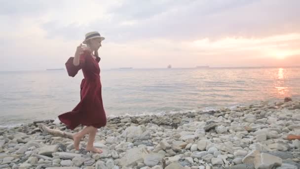
[[[79,65],[73,64],[74,57],[70,57],[66,62],[69,76],[75,77],[81,69],[84,79],[80,84],[80,102],[71,111],[59,115],[59,120],[70,129],[75,129],[80,124],[83,126],[93,126],[96,128],[106,125],[106,113],[102,102],[101,82],[100,82],[100,58],[94,59],[89,51],[84,51],[79,56]]]

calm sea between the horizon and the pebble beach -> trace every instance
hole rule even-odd
[[[0,72],[0,127],[53,119],[80,100],[82,72]],[[163,115],[300,99],[300,68],[101,70],[108,117]]]

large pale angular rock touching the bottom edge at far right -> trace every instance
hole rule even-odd
[[[273,167],[281,166],[281,164],[281,158],[266,153],[257,155],[254,158],[254,167],[256,169],[272,169]]]

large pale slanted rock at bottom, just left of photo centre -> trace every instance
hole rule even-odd
[[[129,167],[136,164],[138,161],[143,161],[149,152],[145,148],[132,148],[126,151],[124,157],[120,159],[119,164],[124,167]]]

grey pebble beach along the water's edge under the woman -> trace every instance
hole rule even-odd
[[[41,132],[40,123],[64,132],[82,128],[71,131],[54,120],[0,127],[0,168],[254,169],[266,164],[278,166],[277,169],[300,167],[300,141],[287,139],[289,134],[300,134],[300,99],[261,101],[206,112],[111,117],[95,138],[95,146],[104,150],[102,154],[84,150],[87,137],[76,151],[73,140]]]

